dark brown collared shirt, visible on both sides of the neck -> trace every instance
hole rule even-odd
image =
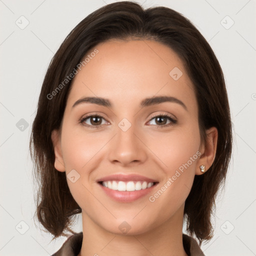
[[[182,234],[183,247],[188,256],[205,256],[196,240],[191,236]],[[51,256],[77,256],[82,246],[82,232],[70,235],[60,249]]]

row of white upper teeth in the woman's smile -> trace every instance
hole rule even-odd
[[[118,191],[135,191],[149,188],[153,185],[153,182],[146,182],[146,181],[116,181],[116,180],[108,180],[103,181],[102,185],[113,190]]]

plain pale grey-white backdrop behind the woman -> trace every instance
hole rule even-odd
[[[112,0],[0,0],[0,255],[50,255],[33,221],[36,186],[28,141],[46,68],[68,32]],[[255,0],[138,0],[184,14],[199,29],[223,69],[233,123],[233,153],[205,255],[256,255],[255,243]],[[77,216],[75,231],[81,231]]]

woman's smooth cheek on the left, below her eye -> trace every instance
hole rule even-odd
[[[67,123],[64,126],[63,123],[61,148],[67,184],[74,200],[80,206],[91,205],[95,201],[95,197],[90,193],[90,173],[97,169],[101,162],[100,149],[107,142],[107,138],[103,139],[102,136],[95,134],[83,132],[80,127],[73,127]],[[94,209],[97,210],[96,207]]]

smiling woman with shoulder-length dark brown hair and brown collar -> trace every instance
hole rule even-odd
[[[55,53],[32,127],[37,217],[73,233],[53,255],[203,255],[231,142],[221,68],[190,21],[130,1],[94,11]]]

